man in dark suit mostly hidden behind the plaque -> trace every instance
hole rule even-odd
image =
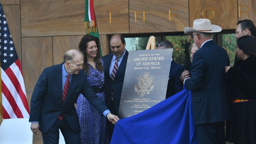
[[[168,40],[162,41],[156,45],[156,49],[173,49],[173,45]],[[178,93],[182,90],[182,83],[180,82],[181,73],[184,71],[184,67],[171,59],[171,67],[168,79],[168,85],[166,90],[166,98]]]

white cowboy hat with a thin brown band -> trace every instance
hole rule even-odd
[[[193,22],[193,28],[185,27],[184,33],[185,34],[192,34],[193,32],[199,33],[217,33],[222,30],[221,27],[211,24],[211,21],[208,19],[196,19]]]

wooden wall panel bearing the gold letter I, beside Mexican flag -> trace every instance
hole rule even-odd
[[[129,33],[128,0],[94,0],[94,8],[99,34]]]

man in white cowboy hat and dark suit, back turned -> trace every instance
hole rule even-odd
[[[229,57],[212,40],[213,33],[221,30],[208,19],[194,20],[193,28],[184,28],[200,48],[193,56],[191,77],[184,80],[185,88],[191,90],[198,144],[225,144],[224,121],[230,117],[225,75]]]

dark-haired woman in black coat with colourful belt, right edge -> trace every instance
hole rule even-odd
[[[256,40],[251,36],[237,39],[238,61],[226,66],[229,77],[230,114],[226,141],[256,144]]]

